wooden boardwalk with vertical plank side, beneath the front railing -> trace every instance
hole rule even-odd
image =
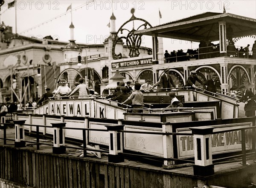
[[[6,133],[8,139],[15,139],[14,128],[7,129]],[[3,138],[3,130],[0,130],[0,137]],[[30,136],[25,136],[25,139],[35,142],[35,138]],[[7,145],[3,146],[3,140],[0,140],[0,145],[0,178],[38,188],[193,188],[198,182],[241,188],[247,176],[254,174],[255,179],[256,174],[255,158],[248,158],[246,167],[242,166],[240,159],[216,164],[214,175],[201,177],[193,175],[192,164],[174,165],[167,170],[127,159],[125,162],[109,163],[108,156],[104,154],[102,159],[96,156],[79,157],[81,152],[70,148],[65,154],[56,155],[52,154],[52,146],[44,145],[44,142],[40,150],[36,150],[36,144],[30,143],[25,148],[14,148],[14,141],[7,141]],[[12,172],[10,169],[17,170]],[[243,176],[244,179],[241,179]]]

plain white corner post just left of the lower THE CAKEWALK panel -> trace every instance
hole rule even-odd
[[[162,125],[163,133],[172,133],[172,125],[164,123]],[[168,169],[170,165],[175,165],[174,161],[166,160],[174,158],[172,135],[163,135],[163,168]]]

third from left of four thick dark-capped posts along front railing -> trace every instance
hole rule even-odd
[[[124,162],[124,156],[118,155],[118,153],[123,151],[122,133],[119,130],[124,130],[124,125],[113,124],[106,125],[105,127],[107,127],[110,138],[108,162]]]

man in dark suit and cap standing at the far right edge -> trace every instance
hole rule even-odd
[[[237,102],[244,102],[244,111],[245,116],[252,117],[255,116],[255,110],[253,109],[253,105],[255,105],[255,96],[253,92],[247,90],[244,85],[239,86],[239,90],[242,92],[242,97],[237,99]],[[254,104],[253,104],[254,103]]]

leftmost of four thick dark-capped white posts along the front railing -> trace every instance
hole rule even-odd
[[[15,142],[14,146],[16,148],[23,148],[26,146],[25,142],[25,132],[24,132],[24,127],[23,124],[25,123],[26,120],[17,120],[13,121],[15,124]]]

